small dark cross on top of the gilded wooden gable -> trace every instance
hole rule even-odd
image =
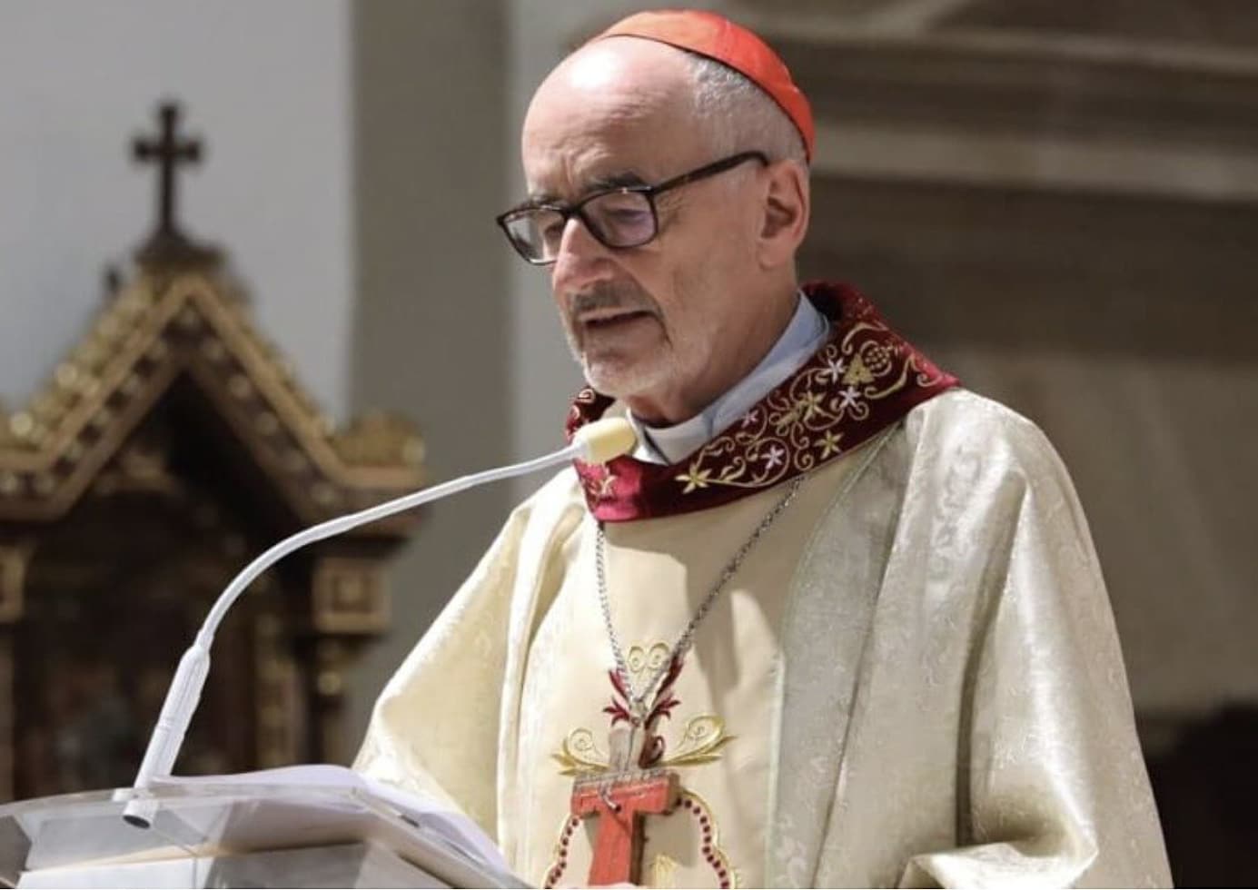
[[[218,259],[216,251],[194,244],[182,231],[175,214],[177,165],[199,163],[200,140],[181,140],[179,104],[164,102],[157,109],[161,132],[155,137],[137,136],[131,145],[132,157],[141,163],[157,165],[157,226],[138,251],[137,258],[148,265],[204,265]]]

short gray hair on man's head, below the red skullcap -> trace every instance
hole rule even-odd
[[[749,78],[715,59],[688,54],[694,106],[718,155],[762,151],[770,161],[791,158],[808,166],[804,140],[786,112]]]

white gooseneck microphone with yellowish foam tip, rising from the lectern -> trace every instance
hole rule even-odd
[[[210,670],[210,645],[214,642],[214,634],[218,631],[228,610],[231,608],[231,605],[245,588],[259,574],[286,556],[316,541],[331,538],[369,522],[384,519],[395,513],[439,500],[477,485],[535,473],[548,466],[565,464],[572,459],[590,464],[605,464],[613,458],[633,450],[635,444],[637,436],[629,421],[623,417],[599,420],[577,430],[572,436],[571,445],[543,458],[459,476],[434,488],[425,488],[377,504],[376,507],[359,510],[357,513],[330,519],[298,532],[265,551],[245,566],[244,571],[219,595],[218,601],[201,625],[201,630],[198,631],[191,647],[180,659],[175,679],[171,680],[166,700],[162,703],[161,714],[157,717],[157,725],[148,739],[148,748],[145,750],[140,772],[136,773],[135,788],[148,788],[155,779],[166,778],[171,774],[175,758],[179,757],[179,749],[184,744],[184,734],[187,732],[187,725],[192,720],[196,705],[201,700],[201,689],[205,686],[205,676]],[[127,802],[122,817],[131,825],[147,828],[152,825],[157,807],[159,802],[155,798],[132,797]]]

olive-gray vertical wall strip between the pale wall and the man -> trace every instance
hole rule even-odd
[[[511,256],[493,224],[506,202],[503,5],[359,3],[352,35],[352,400],[419,424],[428,479],[443,481],[520,454],[508,406]],[[351,750],[380,688],[509,509],[501,484],[425,508],[390,568],[389,635],[347,676]]]

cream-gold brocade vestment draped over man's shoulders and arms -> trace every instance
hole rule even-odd
[[[738,879],[1169,885],[1099,566],[1042,434],[954,391],[911,411],[835,504],[842,481],[810,476],[790,508],[804,509],[770,533],[791,541],[749,558],[741,592],[698,632],[665,727],[671,748],[693,717],[735,737],[682,774]],[[623,525],[642,536],[609,551],[626,645],[674,639],[683,600],[711,583],[697,561],[723,564],[742,530],[722,514],[749,500],[652,520],[677,523],[663,536],[677,544]],[[571,791],[551,755],[606,725],[591,530],[571,471],[517,509],[386,686],[356,764],[455,802],[528,881],[545,879]],[[669,547],[708,541],[687,556],[693,578],[671,564]],[[781,564],[752,566],[761,557]],[[618,559],[652,576],[659,608],[640,590],[626,607]],[[677,851],[662,847],[644,877],[701,874],[678,872],[693,862]]]

